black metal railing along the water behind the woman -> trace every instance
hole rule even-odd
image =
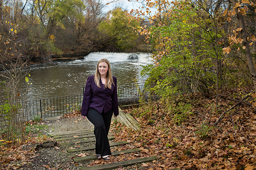
[[[147,96],[148,92],[144,91],[144,83],[120,84],[117,85],[117,95],[118,99],[134,98],[140,95]],[[31,120],[36,117],[44,119],[74,112],[81,108],[82,102],[83,94],[75,94],[26,101],[23,105],[25,105],[26,120]]]

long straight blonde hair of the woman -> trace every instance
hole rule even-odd
[[[111,68],[110,68],[110,63],[107,59],[105,58],[102,58],[100,61],[98,61],[98,65],[97,65],[97,68],[96,68],[96,72],[95,72],[95,76],[94,76],[94,82],[96,84],[96,86],[100,87],[100,72],[98,70],[98,66],[101,62],[105,62],[107,63],[107,65],[109,66],[109,70],[107,72],[107,81],[105,83],[105,87],[108,87],[109,89],[111,89],[112,87],[112,84],[114,84],[113,82],[113,77],[112,77],[112,73],[111,73]],[[114,84],[115,85],[115,84]]]

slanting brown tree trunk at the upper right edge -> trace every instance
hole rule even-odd
[[[237,3],[237,0],[232,0],[233,7],[236,6],[236,3]],[[242,29],[241,34],[242,34],[242,38],[243,38],[243,45],[245,46],[245,56],[246,56],[246,59],[247,59],[247,64],[248,64],[248,67],[249,67],[250,74],[252,76],[252,83],[253,83],[253,86],[254,86],[254,90],[256,91],[256,72],[255,72],[255,69],[254,69],[253,61],[252,61],[252,54],[251,54],[251,51],[250,51],[250,46],[249,46],[249,43],[248,43],[248,40],[247,40],[248,36],[247,36],[246,29],[245,29],[244,16],[241,13],[239,13],[237,8],[235,9],[235,12],[237,13],[237,19],[238,19],[240,28]]]

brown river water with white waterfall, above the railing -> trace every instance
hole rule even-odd
[[[93,52],[82,60],[30,65],[27,69],[30,71],[32,85],[29,87],[27,99],[82,94],[87,77],[94,74],[101,58],[109,60],[112,74],[117,77],[117,84],[144,82],[146,78],[140,76],[141,65],[151,63],[151,54],[137,54],[138,60],[128,60],[128,53]],[[25,80],[22,86],[25,89]]]

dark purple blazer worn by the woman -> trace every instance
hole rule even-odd
[[[117,78],[113,76],[112,88],[108,87],[104,89],[102,81],[100,80],[100,86],[96,86],[94,82],[94,75],[89,76],[85,86],[83,94],[83,104],[81,109],[81,115],[87,116],[89,108],[97,110],[99,113],[108,112],[113,109],[114,115],[119,115],[118,101],[117,101]]]

